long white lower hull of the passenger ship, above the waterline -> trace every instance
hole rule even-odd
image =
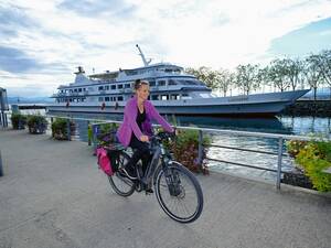
[[[180,116],[275,116],[308,90],[257,94],[237,97],[152,101],[162,115]],[[92,104],[54,104],[47,112],[122,114],[125,103],[109,103],[104,107]]]

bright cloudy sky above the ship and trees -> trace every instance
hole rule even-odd
[[[152,63],[233,69],[331,48],[331,0],[0,0],[0,87],[51,96],[87,74]]]

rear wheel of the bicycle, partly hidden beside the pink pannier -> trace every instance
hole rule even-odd
[[[130,157],[126,152],[120,151],[118,155],[118,168],[124,168],[129,160]],[[108,180],[114,191],[120,196],[127,197],[134,194],[135,183],[119,171],[108,176]]]

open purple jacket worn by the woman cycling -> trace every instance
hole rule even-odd
[[[137,125],[137,115],[138,115],[138,104],[137,96],[132,97],[127,101],[124,112],[124,121],[120,125],[117,131],[117,138],[121,144],[128,147],[131,141],[131,133],[134,132],[138,140],[140,140],[141,136],[151,136],[152,134],[152,126],[151,120],[158,121],[168,132],[173,132],[171,126],[164,120],[163,117],[160,116],[156,107],[149,101],[146,100],[143,103],[143,108],[146,111],[146,120],[141,123],[142,130],[140,130]]]

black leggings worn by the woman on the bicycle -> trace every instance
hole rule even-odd
[[[134,149],[134,154],[130,161],[128,162],[127,166],[135,168],[137,162],[141,159],[142,170],[145,172],[151,159],[148,143],[138,140],[136,136],[132,133],[129,147]]]

